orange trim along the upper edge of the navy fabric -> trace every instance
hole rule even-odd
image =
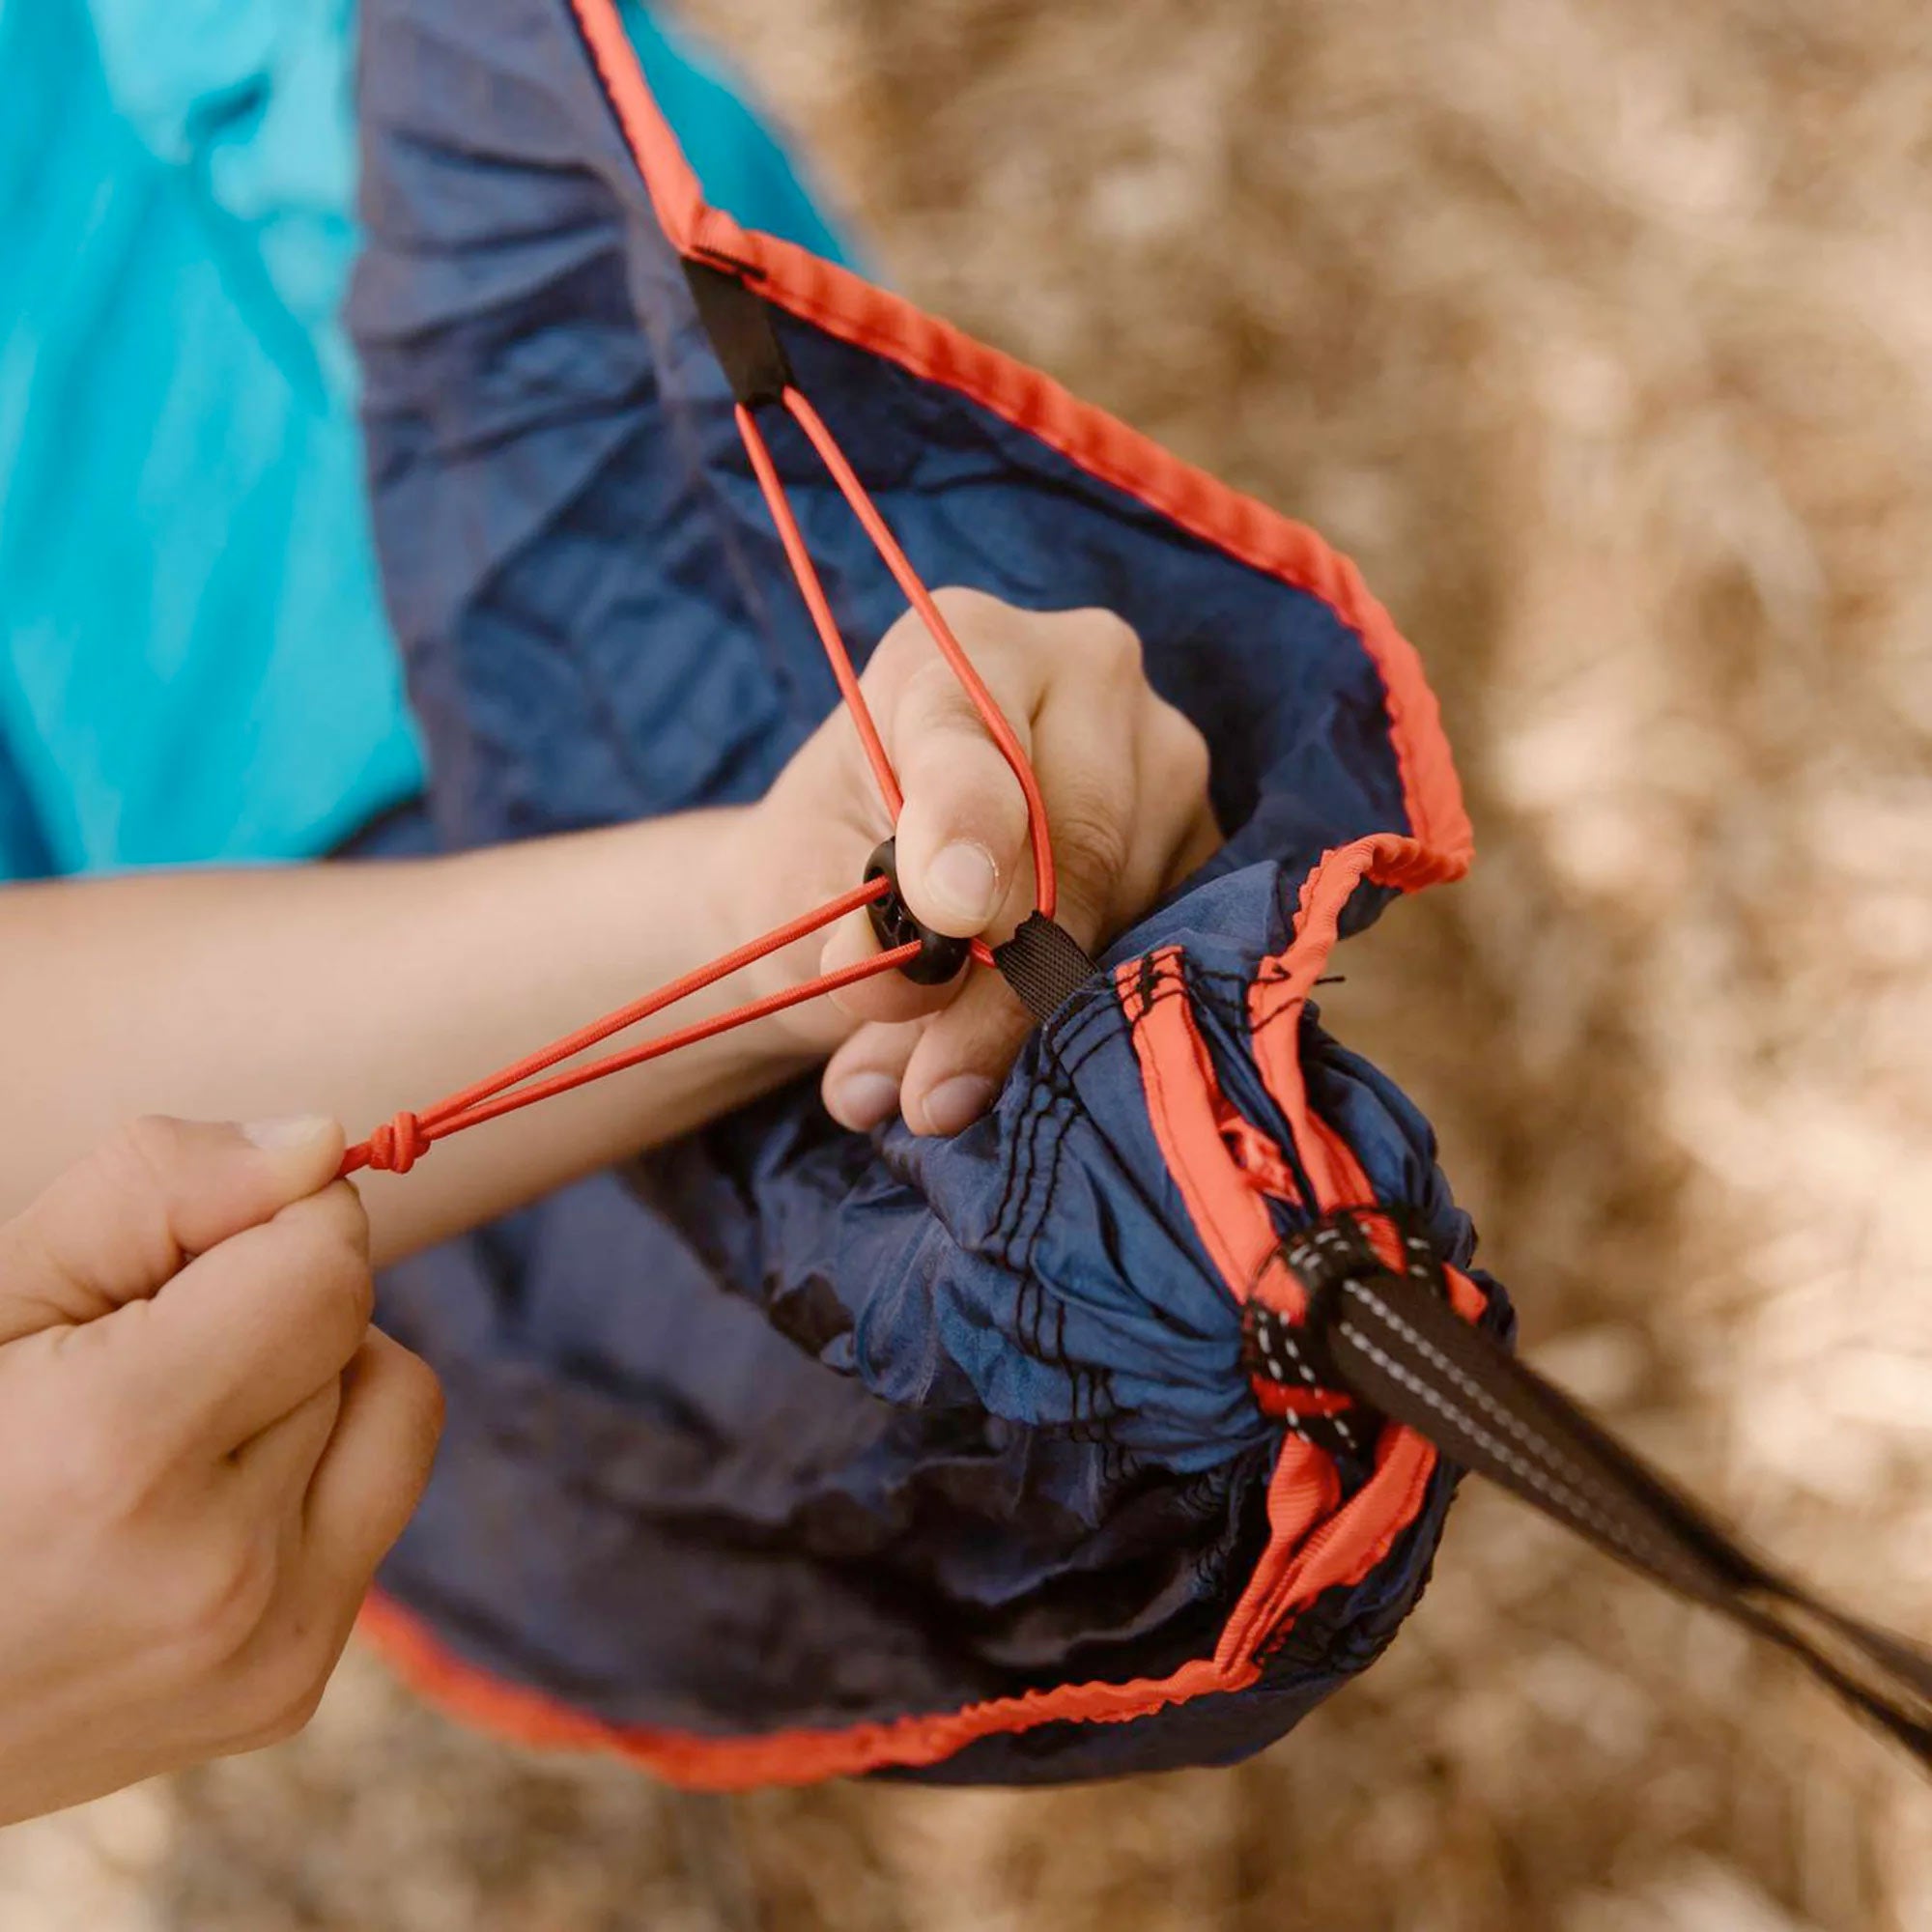
[[[910,301],[777,236],[707,207],[676,135],[645,87],[614,0],[572,0],[618,126],[630,143],[659,226],[674,247],[748,270],[759,294],[827,334],[958,390],[1016,429],[1138,497],[1182,529],[1294,589],[1320,597],[1360,639],[1381,678],[1403,802],[1418,846],[1410,885],[1468,869],[1474,835],[1441,728],[1435,694],[1414,645],[1370,595],[1354,564],[1306,524],[1180,462],[1059,383],[976,342]]]

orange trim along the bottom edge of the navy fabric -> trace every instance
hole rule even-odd
[[[1223,1665],[1219,1658],[1200,1658],[1159,1681],[1059,1685],[846,1731],[694,1737],[605,1723],[539,1690],[493,1677],[446,1650],[429,1625],[381,1592],[369,1594],[355,1629],[412,1690],[477,1729],[539,1750],[611,1752],[696,1791],[806,1785],[887,1764],[937,1764],[995,1733],[1061,1721],[1128,1723],[1204,1690],[1240,1690],[1260,1675],[1252,1663]]]

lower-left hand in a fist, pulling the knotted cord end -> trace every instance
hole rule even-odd
[[[340,1159],[141,1121],[0,1223],[0,1824],[315,1708],[442,1420]]]

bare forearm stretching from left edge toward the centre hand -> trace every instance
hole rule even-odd
[[[166,873],[0,893],[0,1215],[129,1113],[321,1111],[361,1134],[750,939],[738,813],[454,858]],[[746,997],[734,981],[651,1026]],[[361,1177],[379,1258],[473,1227],[775,1086],[734,1030]]]

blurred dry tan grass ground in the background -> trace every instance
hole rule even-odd
[[[1362,562],[1480,858],[1354,949],[1331,1024],[1434,1111],[1538,1358],[1932,1636],[1932,15],[694,12],[900,288]],[[282,1752],[0,1841],[6,1932],[753,1915],[1928,1932],[1932,1799],[1468,1495],[1389,1658],[1235,1774],[692,1806],[363,1662]]]

